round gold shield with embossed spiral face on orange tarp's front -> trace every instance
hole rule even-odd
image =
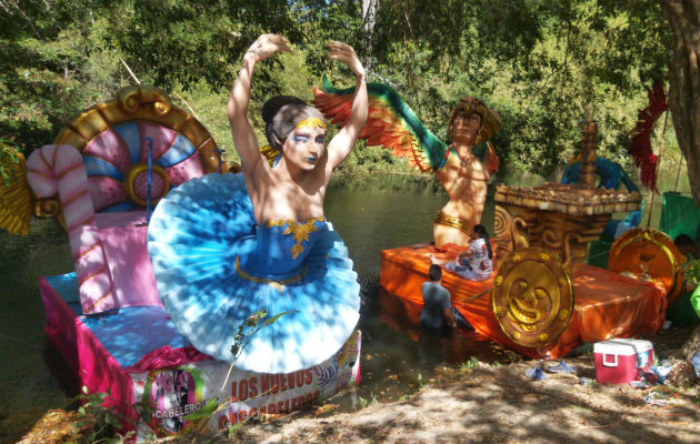
[[[491,301],[508,337],[519,345],[542,347],[569,325],[573,286],[557,254],[528,248],[503,261],[493,281]]]

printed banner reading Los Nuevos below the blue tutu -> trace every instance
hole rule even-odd
[[[207,424],[210,431],[301,410],[359,382],[360,331],[319,365],[284,374],[246,372],[214,360],[150,372],[131,373],[137,403],[149,405],[150,421],[140,421],[137,440],[187,431],[184,416],[219,396],[223,405]],[[224,383],[226,381],[226,383]],[[223,387],[223,390],[221,390]]]

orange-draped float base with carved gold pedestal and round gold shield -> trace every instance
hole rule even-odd
[[[611,215],[639,210],[641,203],[639,193],[592,188],[593,127],[584,132],[588,150],[579,184],[497,186],[498,269],[492,276],[471,282],[446,274],[442,280],[452,304],[479,334],[532,357],[562,357],[584,343],[657,332],[680,272],[674,270],[666,287],[584,264],[588,244],[599,239]],[[638,241],[613,245],[616,258],[621,258],[619,268],[636,263],[639,253],[631,253],[628,245],[637,249]],[[664,248],[674,249],[664,241]],[[406,302],[404,314],[416,321],[430,255],[450,258],[433,245],[382,252],[380,284]],[[649,272],[666,275],[668,270],[661,269]]]

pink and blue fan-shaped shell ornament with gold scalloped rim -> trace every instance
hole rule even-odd
[[[114,95],[82,112],[54,142],[81,152],[96,212],[147,205],[148,140],[152,140],[151,204],[172,186],[219,171],[211,134],[173,105],[166,92],[133,85]]]

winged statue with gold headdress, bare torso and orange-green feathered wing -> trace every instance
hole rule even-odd
[[[367,139],[368,145],[381,145],[397,157],[407,157],[409,164],[420,171],[433,171],[449,196],[436,213],[436,246],[468,245],[472,228],[481,223],[490,174],[498,171],[490,139],[500,129],[500,115],[480,99],[462,98],[450,113],[448,145],[423,127],[392,88],[381,83],[367,88],[370,113],[360,138]],[[354,90],[336,89],[326,78],[323,89],[313,90],[313,103],[333,123],[344,124]],[[474,152],[481,142],[487,142],[486,151]]]

